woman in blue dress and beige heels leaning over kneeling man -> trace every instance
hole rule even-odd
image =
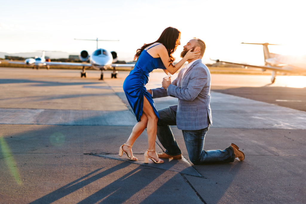
[[[123,90],[126,98],[132,107],[137,123],[134,126],[129,139],[119,149],[119,156],[124,152],[130,160],[137,160],[132,154],[132,145],[139,135],[147,128],[148,150],[144,153],[144,161],[148,163],[150,158],[155,163],[163,163],[155,152],[155,140],[157,131],[157,121],[159,118],[151,94],[144,87],[148,82],[149,73],[153,69],[164,69],[168,74],[174,74],[188,59],[200,57],[199,52],[191,52],[183,57],[175,66],[172,54],[177,46],[181,44],[181,32],[176,28],[166,28],[159,39],[153,43],[144,44],[136,51],[134,59],[137,59],[134,69],[129,73],[123,83]]]

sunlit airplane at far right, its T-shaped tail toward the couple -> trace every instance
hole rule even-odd
[[[259,69],[262,69],[263,72],[266,70],[271,70],[272,71],[271,83],[274,83],[277,72],[298,73],[298,74],[306,73],[306,60],[301,61],[301,60],[297,60],[296,57],[285,56],[285,55],[269,52],[268,45],[277,45],[277,44],[269,44],[269,43],[242,43],[242,44],[262,45],[265,65],[258,66],[258,65],[249,65],[249,64],[221,61],[221,60],[214,60],[214,61],[223,62],[227,64],[233,64],[233,65],[242,65],[246,68],[247,67],[259,68]]]

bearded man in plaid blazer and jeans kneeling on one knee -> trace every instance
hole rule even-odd
[[[241,161],[244,160],[243,152],[233,143],[225,150],[203,150],[205,134],[212,125],[209,105],[211,76],[201,60],[205,48],[202,40],[191,39],[184,46],[181,57],[190,49],[200,51],[201,57],[188,60],[188,64],[172,83],[170,79],[163,79],[162,88],[148,90],[153,98],[178,98],[178,105],[158,111],[160,118],[157,123],[157,137],[166,149],[165,153],[158,154],[159,158],[182,158],[181,150],[170,128],[170,125],[177,125],[183,132],[189,159],[193,164],[233,162],[237,157]]]

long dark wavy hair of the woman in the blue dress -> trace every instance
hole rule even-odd
[[[149,43],[149,44],[144,44],[140,49],[136,50],[136,54],[134,56],[134,60],[138,60],[138,57],[140,56],[141,52],[148,46],[154,44],[154,43],[162,43],[167,51],[168,51],[168,55],[170,57],[170,65],[172,64],[172,62],[175,60],[175,58],[172,56],[172,54],[174,53],[174,51],[177,48],[177,40],[180,37],[181,32],[179,30],[177,30],[176,28],[172,28],[172,27],[168,27],[166,28],[162,34],[160,35],[159,39],[157,39],[155,42],[153,43]]]

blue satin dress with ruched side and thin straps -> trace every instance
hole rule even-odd
[[[123,83],[123,90],[130,106],[134,111],[137,121],[140,121],[140,117],[142,115],[144,96],[147,98],[156,116],[159,118],[152,96],[149,92],[147,92],[147,89],[144,86],[148,83],[150,72],[152,72],[154,69],[166,69],[161,58],[152,57],[149,53],[147,53],[147,50],[143,50],[141,52],[134,69],[129,73],[129,76],[125,78]]]

